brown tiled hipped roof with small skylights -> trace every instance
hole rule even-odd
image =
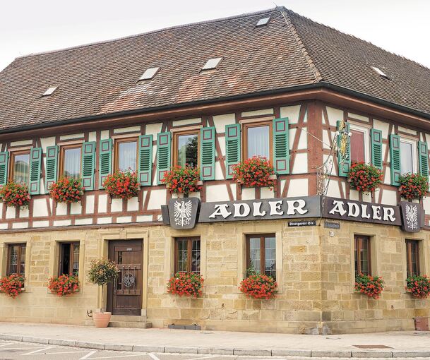
[[[139,82],[151,67],[160,71]],[[0,73],[0,131],[318,82],[430,114],[428,68],[275,8],[20,57]]]

